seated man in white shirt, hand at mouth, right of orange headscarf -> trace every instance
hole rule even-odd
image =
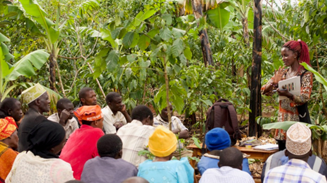
[[[120,127],[126,125],[126,122],[130,123],[132,120],[118,93],[110,92],[106,96],[106,103],[108,106],[101,110],[104,116],[103,126],[106,134],[116,133]]]

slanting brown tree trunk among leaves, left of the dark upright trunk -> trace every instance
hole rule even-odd
[[[192,0],[192,8],[193,8],[193,13],[194,13],[194,16],[196,19],[200,19],[201,17],[203,17],[201,0]],[[207,30],[202,29],[199,32],[199,36],[200,36],[200,40],[201,40],[204,64],[205,64],[205,66],[207,66],[207,64],[213,65],[212,52],[211,52],[211,48],[210,48]]]

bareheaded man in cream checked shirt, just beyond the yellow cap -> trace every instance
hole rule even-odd
[[[132,111],[132,122],[122,126],[117,135],[123,142],[122,159],[135,166],[147,160],[145,155],[139,156],[138,151],[147,149],[149,137],[154,132],[153,114],[147,106],[136,106]]]

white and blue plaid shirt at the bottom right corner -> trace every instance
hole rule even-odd
[[[264,183],[296,182],[326,183],[326,177],[312,170],[308,163],[300,159],[291,159],[285,165],[268,171]]]

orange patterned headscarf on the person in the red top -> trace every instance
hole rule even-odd
[[[82,122],[82,120],[96,121],[103,118],[101,107],[99,105],[82,106],[78,108],[76,111],[74,111],[74,114],[78,118],[79,122]]]

